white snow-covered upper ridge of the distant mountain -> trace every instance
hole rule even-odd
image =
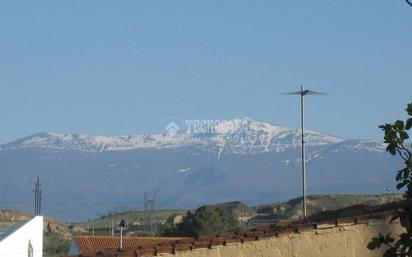
[[[49,148],[87,152],[120,151],[133,149],[165,149],[188,145],[209,146],[219,153],[258,153],[283,151],[300,145],[300,130],[250,118],[236,118],[208,124],[209,129],[196,133],[181,131],[170,134],[135,134],[126,136],[99,136],[58,133],[38,133],[1,146],[1,149]],[[188,133],[189,132],[189,133]],[[340,138],[315,131],[305,131],[308,146],[342,142]]]

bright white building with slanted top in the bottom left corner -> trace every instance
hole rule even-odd
[[[43,217],[0,228],[1,257],[42,257]]]

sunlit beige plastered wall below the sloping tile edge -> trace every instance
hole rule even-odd
[[[369,224],[325,228],[291,234],[244,244],[196,249],[163,257],[382,257],[383,250],[369,251],[370,239],[380,233],[399,235],[399,223],[389,220],[371,221]]]

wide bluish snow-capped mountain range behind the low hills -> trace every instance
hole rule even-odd
[[[299,129],[248,118],[179,125],[163,134],[39,133],[1,145],[0,208],[31,210],[37,176],[46,215],[69,220],[141,208],[144,192],[157,193],[159,208],[299,195]],[[400,163],[382,142],[315,131],[305,141],[310,194],[393,188]]]

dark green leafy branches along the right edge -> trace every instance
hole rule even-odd
[[[392,221],[399,219],[402,227],[405,228],[405,233],[399,235],[399,239],[395,239],[391,234],[382,235],[372,238],[368,244],[371,250],[380,248],[385,245],[388,249],[384,253],[384,257],[407,257],[412,256],[412,145],[407,143],[409,139],[408,130],[412,127],[412,103],[406,108],[408,118],[406,121],[397,120],[392,124],[384,124],[379,126],[385,133],[386,150],[392,155],[397,155],[404,161],[405,166],[397,171],[396,181],[397,189],[406,188],[404,198],[405,207],[397,211],[392,217]]]

